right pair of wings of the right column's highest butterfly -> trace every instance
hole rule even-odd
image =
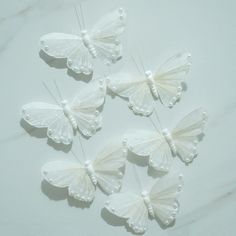
[[[154,81],[161,102],[169,107],[181,97],[184,76],[189,72],[189,53],[178,53],[168,59],[154,75]]]

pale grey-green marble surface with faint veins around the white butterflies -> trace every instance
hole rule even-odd
[[[106,196],[100,191],[86,208],[68,197],[66,190],[42,181],[40,168],[45,162],[73,156],[68,149],[48,141],[45,132],[26,132],[28,127],[20,122],[23,104],[51,102],[43,81],[52,85],[56,79],[68,97],[85,83],[68,73],[63,64],[45,63],[38,48],[39,37],[45,33],[77,32],[73,4],[70,0],[1,1],[0,235],[132,235],[123,221],[102,210]],[[198,158],[187,167],[175,160],[185,177],[175,224],[162,229],[149,221],[145,235],[236,235],[235,1],[83,1],[87,24],[119,6],[127,9],[128,29],[124,59],[111,71],[134,69],[130,55],[137,49],[150,68],[175,52],[188,50],[193,56],[188,89],[172,110],[157,104],[158,114],[170,127],[199,106],[210,115]],[[94,76],[104,71],[108,71],[106,67],[97,63]],[[107,96],[103,115],[102,130],[83,141],[89,156],[95,156],[110,137],[122,135],[127,128],[151,128],[148,119],[134,116],[118,97]],[[81,155],[78,146],[73,148]],[[152,183],[147,167],[140,165],[142,181]],[[128,164],[124,189],[136,185]]]

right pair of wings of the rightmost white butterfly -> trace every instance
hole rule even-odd
[[[172,138],[183,162],[190,163],[196,157],[197,144],[203,135],[206,120],[206,112],[199,108],[185,116],[173,129]]]

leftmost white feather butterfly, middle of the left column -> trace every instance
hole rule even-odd
[[[33,127],[47,128],[48,137],[55,143],[68,145],[78,129],[89,137],[101,127],[102,117],[97,108],[103,105],[105,96],[106,83],[102,79],[95,80],[80,89],[72,102],[24,105],[22,118]]]

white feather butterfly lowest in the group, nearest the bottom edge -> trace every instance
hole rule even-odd
[[[157,180],[150,191],[143,190],[140,195],[130,192],[110,195],[105,208],[126,219],[135,233],[144,233],[147,230],[148,215],[165,226],[175,220],[179,210],[177,197],[182,186],[182,175],[166,175]]]

